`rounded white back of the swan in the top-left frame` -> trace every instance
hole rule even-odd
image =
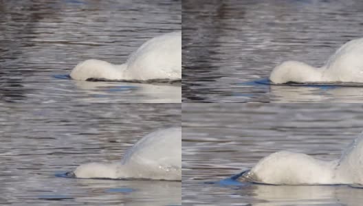
[[[135,80],[180,79],[181,32],[151,38],[131,54],[126,64]]]

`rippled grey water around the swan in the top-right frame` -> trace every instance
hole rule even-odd
[[[283,60],[316,67],[362,37],[363,2],[184,0],[184,102],[363,102],[363,88],[258,87]]]

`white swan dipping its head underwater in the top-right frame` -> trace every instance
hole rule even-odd
[[[363,38],[340,47],[325,66],[316,68],[303,62],[286,61],[274,68],[270,80],[286,82],[363,82]]]

